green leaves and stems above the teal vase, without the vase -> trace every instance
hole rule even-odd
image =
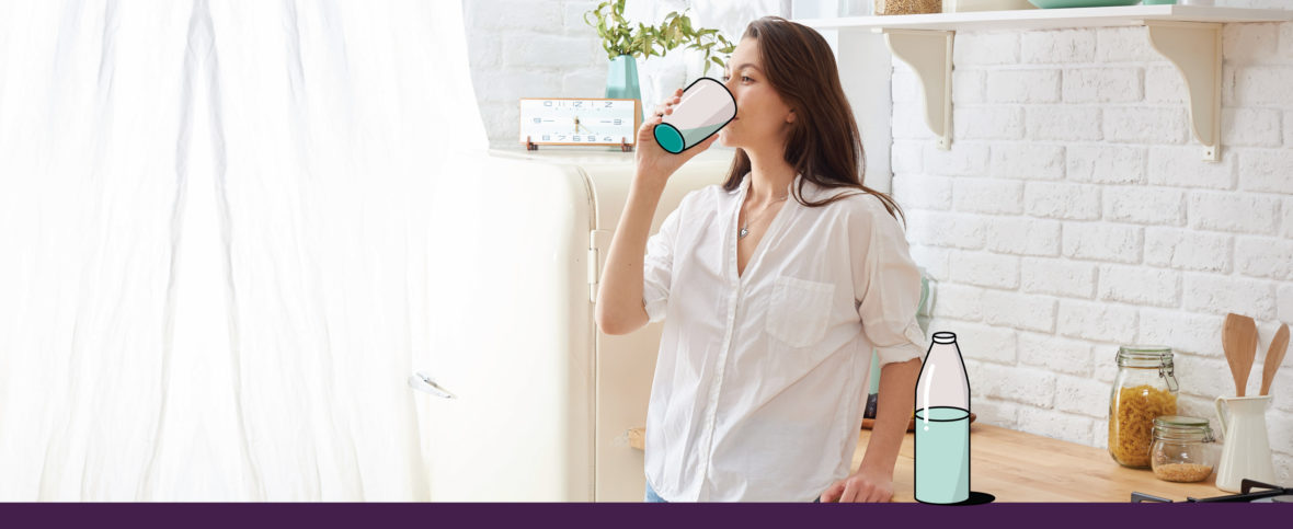
[[[736,44],[724,39],[719,30],[692,27],[692,19],[685,13],[687,9],[683,13],[668,13],[658,27],[639,22],[635,28],[625,18],[625,0],[614,0],[597,4],[597,9],[584,13],[583,22],[597,28],[601,48],[610,59],[619,56],[663,57],[666,52],[685,45],[687,49],[705,52],[705,72],[701,75],[710,71],[710,63],[723,67],[723,59],[714,54],[728,56],[736,50]],[[597,22],[590,21],[588,16]]]

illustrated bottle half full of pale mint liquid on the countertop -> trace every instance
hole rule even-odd
[[[970,499],[970,378],[957,335],[935,332],[915,384],[915,501]]]

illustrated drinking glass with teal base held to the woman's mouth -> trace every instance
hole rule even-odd
[[[700,78],[683,91],[674,113],[656,124],[656,142],[679,154],[719,132],[736,118],[736,97],[712,78]]]

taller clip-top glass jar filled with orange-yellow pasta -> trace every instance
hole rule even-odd
[[[1171,349],[1124,345],[1109,393],[1109,455],[1118,464],[1149,468],[1153,419],[1177,414],[1177,376]]]

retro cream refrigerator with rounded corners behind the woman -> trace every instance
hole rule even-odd
[[[652,224],[720,184],[731,150],[670,178]],[[597,281],[634,154],[490,151],[431,204],[429,344],[407,384],[433,502],[640,502],[662,323],[623,336],[593,322]]]

